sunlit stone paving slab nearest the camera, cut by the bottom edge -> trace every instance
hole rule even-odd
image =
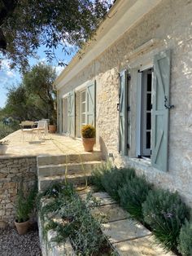
[[[173,256],[155,243],[154,236],[113,244],[120,256]]]

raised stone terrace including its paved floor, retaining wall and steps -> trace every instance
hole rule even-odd
[[[71,139],[63,135],[51,134],[41,140],[32,140],[32,135],[24,134],[23,139],[21,131],[17,130],[2,140],[7,139],[10,141],[7,152],[0,155],[0,227],[7,223],[13,224],[15,197],[21,178],[24,179],[26,191],[32,188],[37,176],[38,183],[41,183],[39,188],[47,186],[51,181],[63,179],[67,168],[67,165],[63,164],[63,159],[70,156],[68,179],[69,174],[72,174],[72,180],[79,182],[83,179],[85,182],[85,175],[79,171],[79,161],[85,161],[87,174],[89,169],[100,163],[102,157],[96,148],[93,153],[85,152],[80,139]],[[74,164],[73,160],[76,160]]]

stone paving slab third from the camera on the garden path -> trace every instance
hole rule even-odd
[[[90,212],[94,217],[101,220],[102,223],[129,218],[129,213],[116,204],[98,206],[91,209]]]

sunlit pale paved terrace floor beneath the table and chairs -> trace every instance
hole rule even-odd
[[[37,137],[32,139],[32,135],[24,134],[22,138],[21,130],[17,130],[2,140],[9,140],[7,152],[0,155],[0,159],[9,157],[37,157],[37,156],[58,156],[63,154],[80,154],[85,152],[81,139],[49,134],[45,139],[39,140]],[[94,148],[94,151],[99,151]]]

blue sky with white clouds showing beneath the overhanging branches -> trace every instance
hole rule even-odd
[[[72,47],[72,46],[69,46]],[[41,46],[39,50],[37,51],[38,59],[29,59],[29,64],[33,66],[34,64],[37,64],[40,61],[46,62],[46,54],[45,51],[46,48],[45,46]],[[59,47],[57,49],[56,57],[58,59],[63,59],[66,64],[72,60],[72,56],[75,54],[73,52],[71,55],[65,55]],[[59,74],[62,70],[63,67],[58,66],[57,60],[54,60],[52,63],[53,66],[55,66],[57,73]],[[9,61],[7,59],[2,60],[2,67],[0,69],[0,108],[3,108],[6,104],[7,100],[7,87],[11,85],[17,85],[21,81],[21,76],[20,73],[14,69],[9,68]]]

